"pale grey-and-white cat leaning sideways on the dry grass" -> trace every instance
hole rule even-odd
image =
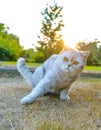
[[[64,48],[59,55],[52,55],[34,73],[25,66],[24,58],[17,62],[18,71],[32,86],[32,92],[22,98],[21,104],[32,103],[48,92],[60,95],[62,100],[70,100],[68,90],[82,72],[88,51]]]

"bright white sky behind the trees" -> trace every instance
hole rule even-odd
[[[17,35],[25,49],[37,43],[41,28],[41,12],[53,0],[0,0],[0,23]],[[101,41],[101,0],[56,0],[63,6],[65,43]]]

